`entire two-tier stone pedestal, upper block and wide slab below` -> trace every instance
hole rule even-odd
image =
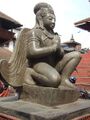
[[[72,120],[90,114],[90,100],[78,97],[77,90],[62,86],[24,85],[20,100],[16,96],[15,99],[10,97],[0,101],[0,114],[19,120]]]

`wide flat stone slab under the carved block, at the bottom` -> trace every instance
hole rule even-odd
[[[48,107],[22,100],[0,102],[0,112],[21,120],[72,120],[90,114],[90,100],[79,99],[73,103]]]

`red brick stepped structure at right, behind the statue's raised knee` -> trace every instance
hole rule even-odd
[[[90,50],[82,54],[77,71],[74,71],[72,75],[77,77],[76,85],[90,90]]]

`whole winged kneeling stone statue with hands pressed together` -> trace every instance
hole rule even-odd
[[[69,77],[81,60],[80,53],[65,54],[58,33],[54,32],[55,13],[47,3],[34,7],[36,24],[19,33],[9,60],[0,60],[0,74],[11,86],[30,85],[75,87]]]

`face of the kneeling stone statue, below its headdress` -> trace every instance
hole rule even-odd
[[[55,15],[51,13],[47,13],[43,17],[43,24],[46,29],[54,29],[55,27]]]

